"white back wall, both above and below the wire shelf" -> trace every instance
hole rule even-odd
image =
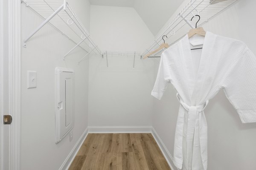
[[[102,50],[143,51],[154,40],[134,8],[91,6],[91,35]],[[154,62],[90,57],[89,126],[151,126]]]

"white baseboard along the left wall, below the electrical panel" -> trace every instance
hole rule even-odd
[[[84,143],[84,140],[86,139],[87,135],[88,135],[88,128],[86,128],[84,130],[84,133],[81,135],[79,140],[76,142],[76,145],[73,147],[73,149],[71,150],[71,152],[69,153],[69,155],[67,156],[67,158],[65,159],[65,161],[63,162],[61,167],[59,168],[59,170],[68,170],[68,168],[72,164],[73,160],[75,159],[76,154],[78,153],[80,147]]]

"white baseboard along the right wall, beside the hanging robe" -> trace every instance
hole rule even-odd
[[[169,153],[168,149],[166,148],[165,144],[163,143],[163,141],[161,140],[161,138],[159,137],[159,135],[157,134],[157,131],[154,129],[154,127],[152,127],[152,135],[155,139],[155,141],[157,142],[160,150],[163,153],[163,156],[165,157],[167,163],[169,164],[169,166],[171,167],[172,170],[178,170],[175,165],[173,164],[173,158],[172,155]]]

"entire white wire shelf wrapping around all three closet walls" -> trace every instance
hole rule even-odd
[[[201,20],[199,21],[198,26],[201,26],[236,1],[237,0],[190,0],[180,13],[176,15],[174,20],[172,20],[172,22],[163,29],[154,42],[143,53],[141,53],[137,51],[101,51],[66,0],[64,0],[64,3],[63,1],[47,2],[46,0],[42,0],[40,2],[35,2],[21,0],[25,6],[31,8],[44,19],[44,22],[24,40],[23,46],[26,47],[26,42],[46,23],[50,23],[61,34],[64,34],[76,44],[74,48],[67,51],[64,58],[78,46],[83,48],[85,51],[89,48],[89,52],[87,51],[87,54],[82,57],[79,62],[87,57],[87,55],[92,51],[101,54],[102,57],[103,55],[141,57],[158,48],[161,44],[163,35],[168,36],[170,44],[179,40],[180,37],[183,37],[183,35],[185,35],[191,27],[193,28],[197,22],[197,18],[195,18],[191,23],[189,21],[195,14],[200,15]]]

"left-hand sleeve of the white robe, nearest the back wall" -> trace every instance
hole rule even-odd
[[[160,64],[157,72],[157,79],[154,84],[153,91],[151,95],[157,99],[161,99],[163,96],[163,92],[167,88],[167,84],[170,81],[169,69],[168,69],[168,60],[165,58],[165,54],[161,55]]]

